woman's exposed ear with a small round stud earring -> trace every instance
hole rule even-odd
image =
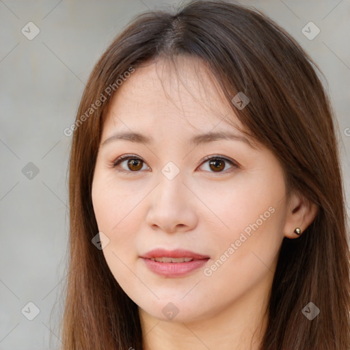
[[[284,222],[284,237],[294,239],[299,237],[295,234],[295,228],[300,228],[301,234],[314,221],[318,211],[317,204],[310,202],[299,193],[293,193],[287,205],[286,220]]]

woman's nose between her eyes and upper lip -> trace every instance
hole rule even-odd
[[[148,196],[146,224],[167,233],[193,230],[198,224],[195,197],[181,176],[172,180],[159,176],[159,184]]]

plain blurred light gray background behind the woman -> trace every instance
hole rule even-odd
[[[350,1],[240,2],[284,27],[323,70],[349,193]],[[60,345],[71,142],[63,131],[74,123],[87,78],[114,36],[135,14],[176,3],[0,0],[0,349]],[[21,32],[29,21],[40,29],[32,40]],[[310,21],[321,30],[313,40],[301,32]],[[32,321],[29,301],[40,310]]]

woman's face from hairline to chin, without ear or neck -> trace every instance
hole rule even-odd
[[[243,299],[266,299],[284,237],[286,189],[273,154],[252,148],[226,122],[241,126],[214,77],[195,59],[176,67],[160,60],[137,68],[118,88],[92,201],[108,237],[103,254],[125,293],[152,317],[189,322]],[[116,136],[123,133],[129,136]],[[237,138],[199,137],[208,133]],[[157,256],[167,259],[150,259]]]

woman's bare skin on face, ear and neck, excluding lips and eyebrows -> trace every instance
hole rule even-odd
[[[215,77],[190,57],[178,58],[176,70],[163,59],[137,68],[111,100],[92,202],[98,229],[109,238],[103,249],[107,265],[139,306],[146,350],[258,349],[282,239],[297,238],[295,228],[304,232],[317,213],[296,193],[287,202],[282,167],[262,145],[254,149],[231,139],[189,144],[208,131],[243,135],[228,119],[242,127]],[[103,144],[121,131],[153,142]],[[144,163],[128,166],[124,159],[113,167],[123,154]],[[238,167],[224,161],[215,172],[203,161],[218,155]],[[169,161],[180,171],[172,180],[161,172]],[[273,213],[228,254],[230,244],[271,207]],[[139,258],[155,247],[184,248],[210,259],[188,275],[163,277]],[[224,252],[226,261],[205,275]],[[178,310],[173,319],[162,312],[170,302]]]

